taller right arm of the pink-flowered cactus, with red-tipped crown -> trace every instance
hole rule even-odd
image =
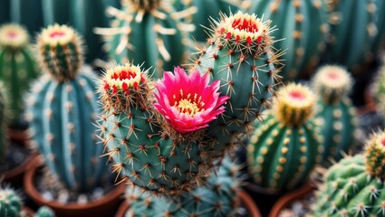
[[[208,46],[199,49],[193,68],[220,80],[219,91],[229,97],[226,112],[210,123],[207,137],[212,147],[209,156],[230,149],[241,142],[256,118],[273,97],[279,78],[274,64],[274,38],[270,21],[255,14],[221,14],[213,21]]]

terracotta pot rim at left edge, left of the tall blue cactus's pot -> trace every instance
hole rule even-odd
[[[26,172],[28,166],[31,165],[32,162],[34,162],[34,159],[36,157],[37,157],[37,154],[35,152],[31,153],[31,155],[28,156],[22,164],[17,165],[8,171],[0,173],[0,177],[2,177],[3,181],[7,183],[14,183],[14,182],[17,182],[18,180],[23,180],[24,173]]]

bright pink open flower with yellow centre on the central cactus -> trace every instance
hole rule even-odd
[[[168,124],[180,134],[205,128],[225,111],[227,96],[219,97],[219,80],[208,84],[210,75],[193,71],[189,76],[177,67],[174,74],[164,73],[157,83],[158,103],[154,107],[166,118]]]

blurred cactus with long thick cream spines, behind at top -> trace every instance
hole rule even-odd
[[[192,26],[183,24],[181,18],[188,10],[176,12],[168,0],[130,0],[121,9],[110,8],[115,17],[111,28],[97,29],[105,36],[112,61],[144,62],[144,67],[155,67],[155,78],[161,78],[163,69],[171,69],[184,60],[183,31]]]

